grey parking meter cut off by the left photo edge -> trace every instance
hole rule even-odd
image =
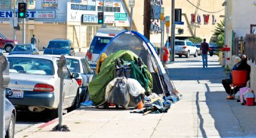
[[[4,55],[0,55],[0,138],[5,137],[5,92],[10,82],[9,63]]]

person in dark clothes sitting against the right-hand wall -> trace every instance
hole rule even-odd
[[[247,80],[250,79],[250,72],[251,72],[251,66],[247,64],[247,57],[246,55],[241,55],[240,56],[241,61],[239,61],[237,64],[234,65],[234,67],[232,68],[232,70],[246,70],[248,71],[248,76],[247,76]],[[230,91],[230,86],[232,82],[232,74],[229,74],[229,79],[223,79],[222,80],[222,85],[226,90],[226,93],[228,94],[228,97],[226,97],[226,99],[234,99],[233,96],[233,91]],[[234,88],[234,94],[236,94],[237,91],[239,91],[240,87],[236,87]]]

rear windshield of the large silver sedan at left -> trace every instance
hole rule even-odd
[[[10,73],[53,75],[52,61],[40,58],[9,57]]]

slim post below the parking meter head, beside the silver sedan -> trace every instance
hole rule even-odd
[[[62,118],[63,118],[63,84],[64,79],[60,78],[60,104],[58,104],[58,125],[62,126]]]

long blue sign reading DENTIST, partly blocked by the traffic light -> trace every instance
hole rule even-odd
[[[17,14],[17,13],[16,13]],[[0,10],[0,19],[13,17],[12,10]],[[36,19],[55,19],[54,10],[28,10],[26,18],[36,18]]]

